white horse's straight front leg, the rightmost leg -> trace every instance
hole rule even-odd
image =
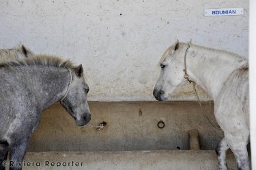
[[[241,170],[250,169],[246,143],[242,143],[242,144],[236,143],[234,145],[232,143],[230,148],[236,157],[236,162],[238,163],[238,169],[241,169]]]

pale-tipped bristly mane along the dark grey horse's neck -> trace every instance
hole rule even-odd
[[[18,66],[47,66],[47,67],[68,67],[70,69],[76,68],[76,66],[70,61],[57,57],[57,56],[46,56],[37,55],[31,58],[26,58],[24,60],[8,61],[0,63],[0,67],[18,67]]]

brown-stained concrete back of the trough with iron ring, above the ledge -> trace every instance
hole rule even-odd
[[[91,126],[76,126],[74,119],[56,103],[42,114],[28,151],[130,151],[188,150],[188,131],[197,129],[202,150],[214,150],[223,131],[214,129],[195,101],[90,102],[90,125],[106,126],[98,131]],[[215,126],[213,103],[203,109]],[[163,129],[158,122],[165,122]],[[161,125],[161,124],[160,124]]]

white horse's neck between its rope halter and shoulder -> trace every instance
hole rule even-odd
[[[196,82],[215,100],[229,75],[246,65],[236,54],[191,45],[186,56],[190,80]]]

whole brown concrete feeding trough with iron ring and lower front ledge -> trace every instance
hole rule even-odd
[[[194,101],[89,102],[90,126],[76,126],[59,105],[45,110],[25,169],[218,169],[214,129]],[[218,126],[213,103],[203,103]],[[101,128],[100,128],[101,127]],[[236,169],[227,154],[229,169]]]

